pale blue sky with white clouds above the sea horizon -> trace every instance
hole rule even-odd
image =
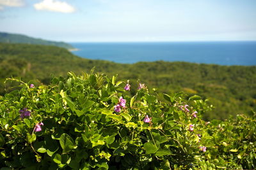
[[[0,32],[67,42],[256,41],[256,0],[0,0]]]

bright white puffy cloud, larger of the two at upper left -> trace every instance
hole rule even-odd
[[[62,13],[72,13],[75,11],[75,8],[70,4],[55,0],[44,0],[41,3],[34,4],[34,7],[36,10],[56,11]]]

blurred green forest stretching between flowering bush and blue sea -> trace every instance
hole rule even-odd
[[[120,56],[122,57],[122,56]],[[104,60],[82,59],[65,48],[43,45],[0,43],[0,89],[7,77],[34,80],[35,85],[49,83],[51,74],[65,76],[68,71],[118,74],[120,80],[130,80],[134,94],[138,80],[148,89],[166,94],[183,91],[209,99],[215,108],[204,118],[227,118],[228,115],[250,113],[256,108],[256,66],[218,66],[188,62],[138,62],[116,64]],[[39,82],[40,81],[40,82]],[[7,88],[8,89],[7,84]]]

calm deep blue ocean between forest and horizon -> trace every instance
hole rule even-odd
[[[70,44],[79,57],[119,63],[164,60],[256,66],[256,41]]]

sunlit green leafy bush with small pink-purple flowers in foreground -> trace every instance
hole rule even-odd
[[[204,122],[199,96],[134,96],[104,74],[52,78],[0,97],[3,169],[255,168],[255,115]],[[166,103],[159,101],[159,96]]]

